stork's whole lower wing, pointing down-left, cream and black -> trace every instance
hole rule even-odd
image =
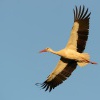
[[[40,84],[41,87],[43,89],[45,88],[45,91],[49,90],[50,92],[52,89],[66,80],[75,70],[76,66],[76,61],[61,57],[54,71],[48,76],[45,82]]]

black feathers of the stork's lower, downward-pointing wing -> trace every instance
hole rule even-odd
[[[68,59],[61,57],[61,60],[63,62],[66,62],[66,60],[68,60]],[[43,82],[41,84],[41,87],[43,89],[45,88],[45,91],[49,90],[49,92],[50,92],[56,86],[63,83],[63,81],[65,81],[71,75],[71,73],[76,69],[76,66],[77,66],[76,61],[69,60],[68,65],[61,71],[61,73],[59,73],[54,79],[52,79],[52,81],[46,80],[45,82]]]

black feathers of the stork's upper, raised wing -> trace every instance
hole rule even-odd
[[[79,29],[78,29],[78,40],[77,40],[77,51],[82,53],[86,46],[86,41],[88,39],[89,34],[89,19],[90,19],[90,13],[88,13],[88,8],[85,10],[85,6],[83,6],[83,9],[81,11],[81,6],[79,10],[74,11],[74,22],[79,23]],[[77,17],[78,16],[78,17]]]

